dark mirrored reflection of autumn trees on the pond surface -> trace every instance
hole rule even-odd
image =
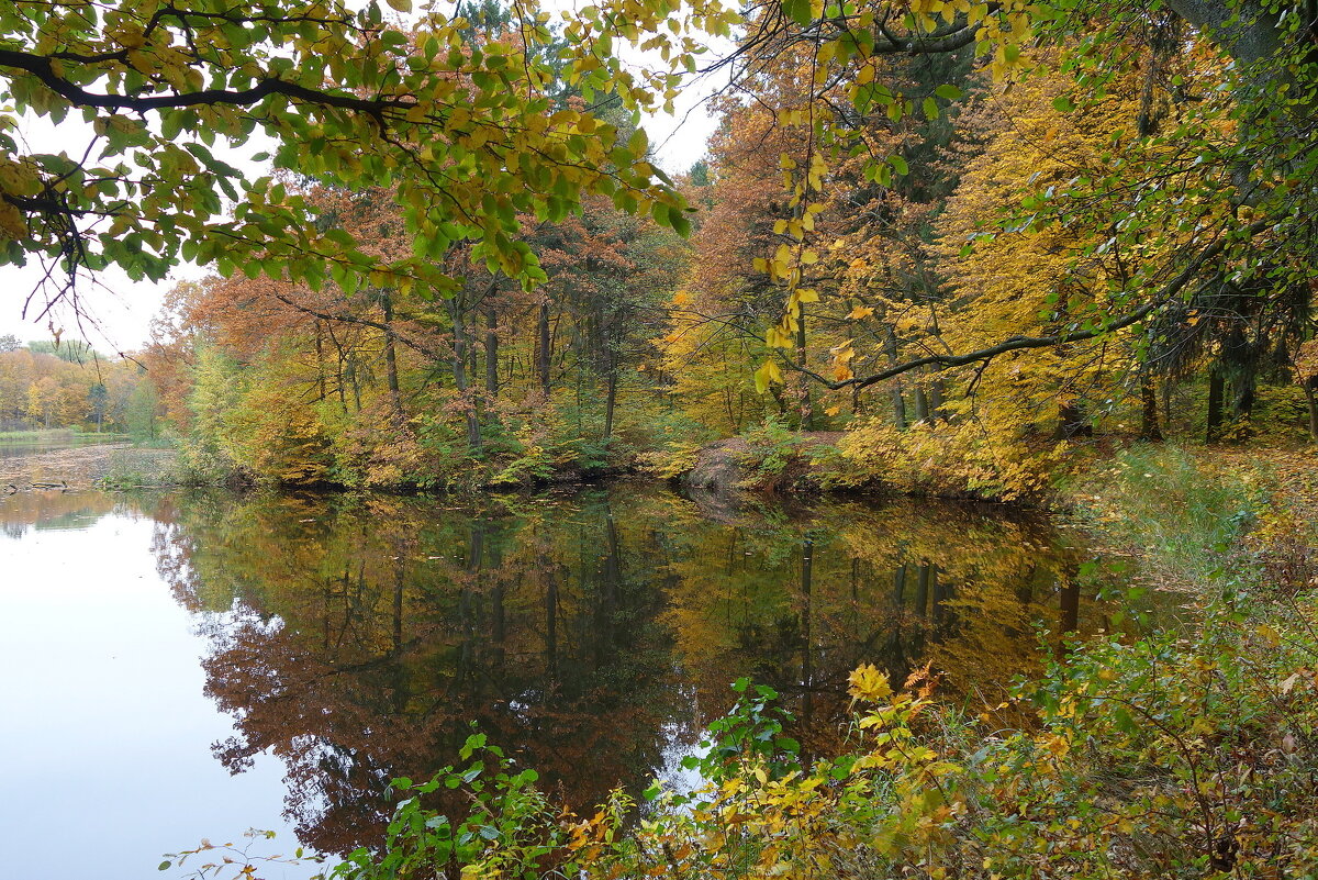
[[[453,763],[477,725],[563,801],[637,790],[750,676],[807,751],[840,736],[846,676],[927,661],[992,698],[1037,663],[1036,623],[1103,626],[1086,557],[1002,509],[820,502],[710,518],[633,486],[489,499],[175,495],[156,553],[212,651],[233,772],[269,750],[307,846],[387,822],[390,779]],[[456,804],[453,806],[457,806]]]

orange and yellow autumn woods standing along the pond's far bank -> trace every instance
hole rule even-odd
[[[486,12],[469,40],[515,45]],[[1083,96],[1065,51],[1010,80],[971,53],[887,61],[863,86],[902,104],[838,109],[821,134],[783,120],[858,84],[811,88],[812,50],[751,43],[737,92],[712,103],[708,161],[673,182],[688,237],[590,196],[558,221],[517,217],[543,274],[530,289],[478,267],[477,242],[438,261],[460,279],[442,296],[243,271],[179,286],[145,356],[159,416],[203,480],[468,489],[677,473],[737,435],[754,435],[745,464],[783,468],[811,457],[796,432],[841,431],[815,482],[1017,498],[1093,437],[1318,437],[1313,279],[1271,278],[1273,233],[1230,253],[1213,238],[1301,199],[1238,204],[1224,184],[1242,149],[1224,61],[1164,14],[1106,49],[1122,65]],[[580,92],[556,86],[551,105],[584,107]],[[645,140],[617,96],[592,111]],[[826,171],[825,136],[847,138]],[[397,192],[275,186],[374,258],[411,248]],[[1141,299],[1205,240],[1224,252],[1215,275]],[[1251,260],[1260,277],[1231,277]],[[1066,331],[1087,339],[945,365]]]

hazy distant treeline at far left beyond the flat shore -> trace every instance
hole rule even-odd
[[[158,400],[145,369],[80,340],[0,336],[0,432],[72,428],[157,436]]]

